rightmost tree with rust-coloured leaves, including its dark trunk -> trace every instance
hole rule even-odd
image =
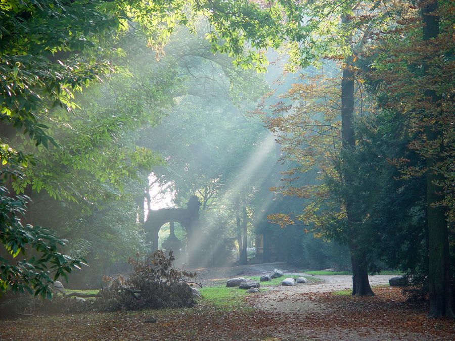
[[[450,8],[446,2],[403,7],[396,29],[381,33],[380,53],[370,78],[385,108],[396,113],[391,118],[403,121],[401,129],[411,137],[407,147],[421,159],[415,163],[398,157],[392,162],[404,179],[424,177],[426,181],[431,316],[451,316],[453,305],[447,230],[447,223],[453,223]]]

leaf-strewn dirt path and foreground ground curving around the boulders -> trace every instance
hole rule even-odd
[[[281,269],[298,273],[285,264],[197,269],[204,285],[224,284],[226,278],[260,275]],[[195,269],[196,270],[196,269]],[[35,316],[0,322],[0,340],[451,340],[455,323],[429,319],[428,304],[406,302],[400,288],[376,287],[375,297],[333,295],[350,288],[350,276],[311,276],[296,286],[275,286],[250,294],[244,307],[217,309],[203,304],[191,309],[90,312],[64,316]],[[391,276],[371,276],[373,285]],[[239,289],[240,290],[240,289]],[[146,321],[153,316],[156,323]]]

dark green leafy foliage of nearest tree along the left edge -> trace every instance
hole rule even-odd
[[[162,11],[163,7],[167,11]],[[185,2],[181,1],[152,7],[145,7],[140,1],[94,1],[88,4],[60,0],[2,2],[1,184],[7,184],[6,180],[11,179],[16,191],[24,191],[27,183],[31,182],[26,173],[36,164],[36,150],[30,146],[34,144],[38,148],[42,146],[47,149],[52,143],[60,147],[51,136],[49,126],[43,124],[43,121],[50,118],[50,112],[54,112],[56,107],[71,113],[78,108],[74,101],[76,92],[116,71],[111,60],[122,54],[116,48],[116,40],[128,25],[134,22],[134,25],[144,29],[149,42],[155,42],[159,50],[158,46],[166,40],[177,23],[189,24],[185,7]],[[119,126],[117,132],[118,129]],[[15,145],[16,133],[30,139],[22,151]],[[96,139],[96,136],[91,137]],[[38,180],[38,177],[35,176],[34,180]],[[76,200],[77,193],[60,191],[59,183],[52,183],[55,179],[47,180],[46,189],[52,197],[62,196]],[[36,183],[34,189],[36,186],[39,185]],[[2,291],[26,289],[49,296],[50,283],[59,275],[65,276],[81,264],[81,260],[58,253],[57,246],[63,246],[65,240],[57,238],[50,230],[24,226],[18,213],[26,212],[26,198],[14,198],[10,194],[11,188],[2,188],[1,198],[5,203],[1,211],[5,219],[0,230],[2,242],[13,256],[17,256],[19,251],[25,253],[27,245],[41,255],[17,265],[2,258]],[[54,277],[51,276],[51,270],[54,269],[51,263],[55,264]]]

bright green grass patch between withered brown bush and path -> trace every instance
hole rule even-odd
[[[202,300],[217,308],[239,308],[245,298],[246,290],[224,285],[209,286],[201,290]]]

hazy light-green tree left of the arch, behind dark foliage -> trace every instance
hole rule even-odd
[[[142,35],[127,34],[119,46],[128,53],[115,63],[128,73],[77,95],[70,115],[50,111],[45,122],[59,148],[38,147],[27,170],[31,183],[24,183],[33,199],[27,219],[64,236],[67,252],[91,264],[71,275],[73,286],[98,285],[100,273],[119,271],[131,253],[145,252],[143,192],[163,160],[139,147],[138,130],[158,124],[181,90],[174,65],[158,63]]]

